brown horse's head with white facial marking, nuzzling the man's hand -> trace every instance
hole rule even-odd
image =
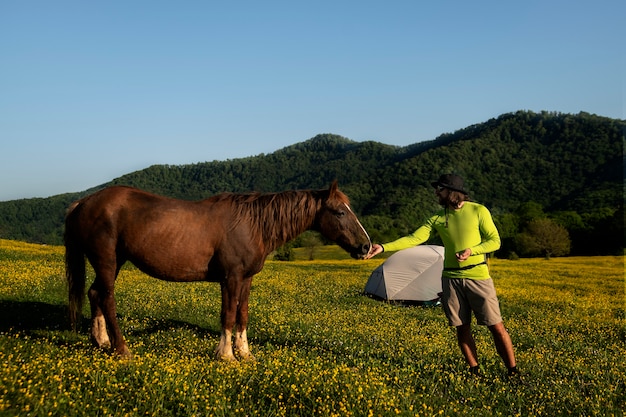
[[[355,259],[363,259],[372,248],[372,241],[350,209],[350,200],[339,191],[337,181],[322,192],[321,207],[314,229],[341,246]]]

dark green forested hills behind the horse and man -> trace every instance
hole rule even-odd
[[[524,252],[522,238],[537,219],[567,231],[567,253],[623,253],[625,129],[623,120],[587,113],[520,111],[408,147],[322,134],[269,155],[157,165],[79,193],[2,202],[0,237],[61,243],[69,203],[111,184],[195,200],[325,188],[337,179],[374,239],[384,241],[419,226],[437,208],[429,183],[454,172],[492,210],[502,254]]]

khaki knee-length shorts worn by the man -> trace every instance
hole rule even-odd
[[[478,324],[493,326],[502,321],[500,304],[491,278],[477,280],[443,277],[441,281],[441,301],[450,326],[471,324],[472,311]]]

